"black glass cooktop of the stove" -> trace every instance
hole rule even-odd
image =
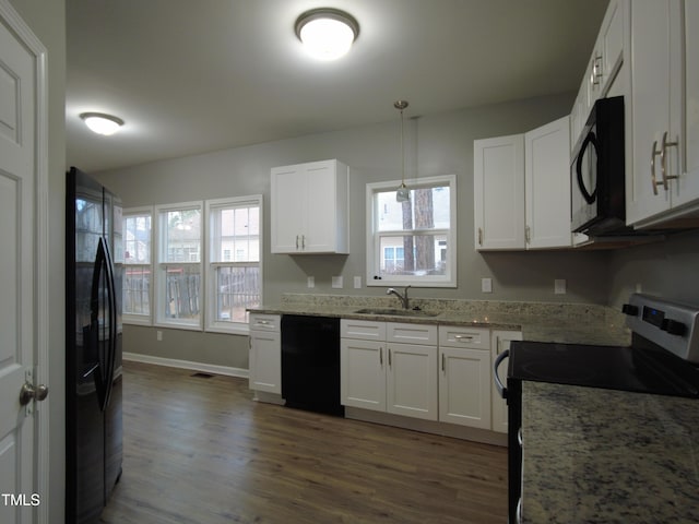
[[[664,349],[512,342],[508,379],[699,398],[699,370]]]

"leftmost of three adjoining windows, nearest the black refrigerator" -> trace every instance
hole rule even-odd
[[[151,323],[151,209],[127,210],[122,218],[125,321]]]

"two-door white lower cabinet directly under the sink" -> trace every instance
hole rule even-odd
[[[340,332],[343,405],[437,420],[436,325],[342,319]]]

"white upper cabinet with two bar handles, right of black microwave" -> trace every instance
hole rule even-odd
[[[635,0],[630,13],[627,223],[665,227],[699,211],[699,5]]]

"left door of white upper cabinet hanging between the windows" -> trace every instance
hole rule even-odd
[[[273,168],[270,200],[271,252],[300,251],[307,207],[306,172],[303,167]]]

